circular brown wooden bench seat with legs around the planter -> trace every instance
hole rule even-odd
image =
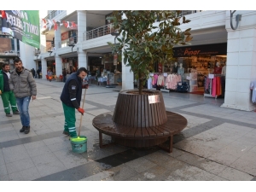
[[[132,127],[120,125],[113,122],[113,112],[102,113],[96,116],[92,125],[99,131],[100,148],[102,143],[102,133],[111,136],[114,143],[119,143],[127,147],[145,148],[159,145],[160,148],[172,153],[173,136],[183,131],[188,121],[182,115],[166,111],[167,120],[164,124],[148,127]],[[160,144],[168,141],[168,146]]]

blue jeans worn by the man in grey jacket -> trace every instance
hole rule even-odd
[[[30,125],[30,117],[28,113],[28,105],[29,105],[30,99],[31,99],[31,96],[16,98],[17,106],[20,111],[20,120],[21,120],[22,126]]]

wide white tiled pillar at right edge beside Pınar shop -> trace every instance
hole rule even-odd
[[[256,11],[236,11],[235,16],[241,14],[236,30],[230,28],[230,11],[227,12],[226,86],[221,107],[252,111],[256,108],[250,90],[250,82],[256,79]]]

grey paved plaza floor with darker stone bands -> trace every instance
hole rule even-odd
[[[0,103],[0,181],[256,180],[256,113],[221,108],[223,98],[163,92],[166,110],[188,119],[187,127],[174,137],[171,154],[158,147],[99,148],[92,119],[113,111],[121,87],[90,84],[81,131],[88,138],[87,152],[76,154],[62,134],[64,83],[36,83],[29,134],[20,133],[20,116],[6,117]],[[80,114],[76,116],[78,130]],[[103,135],[103,141],[108,143],[110,137]]]

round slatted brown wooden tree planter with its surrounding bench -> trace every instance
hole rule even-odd
[[[100,147],[102,133],[113,137],[114,143],[127,147],[144,148],[165,143],[172,152],[172,137],[187,125],[183,116],[166,112],[162,93],[159,90],[123,90],[119,92],[113,113],[103,113],[93,119],[99,131]]]

